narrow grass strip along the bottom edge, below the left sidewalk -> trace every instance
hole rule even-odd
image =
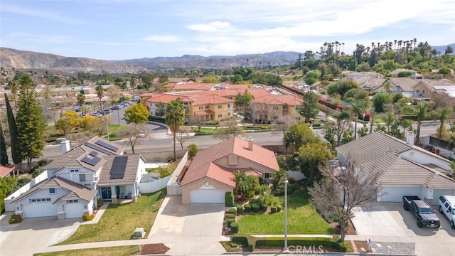
[[[127,246],[116,246],[116,247],[101,247],[101,248],[92,248],[92,249],[81,249],[81,250],[65,250],[60,252],[44,252],[44,253],[35,253],[33,256],[105,256],[105,255],[119,255],[119,256],[129,256],[129,255],[141,255],[141,252],[138,251],[137,245],[127,245]]]

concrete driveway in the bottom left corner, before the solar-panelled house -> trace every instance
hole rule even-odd
[[[9,224],[11,213],[1,215],[0,255],[33,255],[33,252],[69,238],[80,225],[80,219],[58,221],[57,217],[26,218]]]

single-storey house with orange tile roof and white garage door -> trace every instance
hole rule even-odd
[[[234,191],[235,171],[272,178],[279,169],[273,151],[250,140],[232,137],[198,151],[181,178],[182,203],[225,203],[225,193]]]

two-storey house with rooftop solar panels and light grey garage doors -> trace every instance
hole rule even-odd
[[[13,196],[14,211],[23,218],[63,220],[92,214],[98,199],[136,201],[145,161],[139,154],[123,152],[123,147],[100,137],[73,149],[68,141],[62,142],[63,155],[44,166],[47,178]]]

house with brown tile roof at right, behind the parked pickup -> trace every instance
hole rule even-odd
[[[382,132],[374,132],[336,147],[342,166],[348,163],[366,176],[380,172],[381,202],[401,202],[402,196],[419,196],[437,204],[441,195],[455,195],[455,180],[444,174],[451,161]]]

